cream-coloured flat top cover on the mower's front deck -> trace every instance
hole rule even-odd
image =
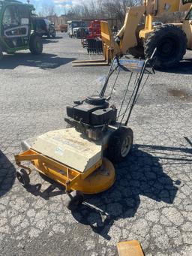
[[[40,135],[31,149],[85,173],[100,161],[101,146],[83,137],[75,128],[67,128]]]

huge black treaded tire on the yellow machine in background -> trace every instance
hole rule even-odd
[[[172,68],[183,59],[187,49],[185,33],[177,26],[166,24],[152,32],[145,41],[145,58],[157,47],[155,68]]]

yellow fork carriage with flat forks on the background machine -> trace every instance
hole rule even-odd
[[[74,61],[72,62],[74,67],[110,65],[113,57],[120,53],[120,49],[118,44],[113,39],[113,33],[111,32],[110,26],[106,21],[101,21],[101,38],[104,59]]]

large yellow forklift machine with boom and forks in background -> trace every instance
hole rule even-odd
[[[127,8],[124,26],[113,38],[107,22],[101,22],[104,59],[76,61],[80,65],[109,65],[114,56],[131,53],[148,59],[157,48],[156,68],[178,65],[186,50],[192,50],[192,0],[144,0],[142,6]],[[188,11],[183,23],[153,27],[153,18],[163,13]],[[145,16],[145,26],[138,26]]]

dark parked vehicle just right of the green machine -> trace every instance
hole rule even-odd
[[[56,36],[54,24],[43,18],[34,18],[34,29],[41,37],[46,35],[47,38],[50,38],[51,36],[52,38],[55,38]]]

